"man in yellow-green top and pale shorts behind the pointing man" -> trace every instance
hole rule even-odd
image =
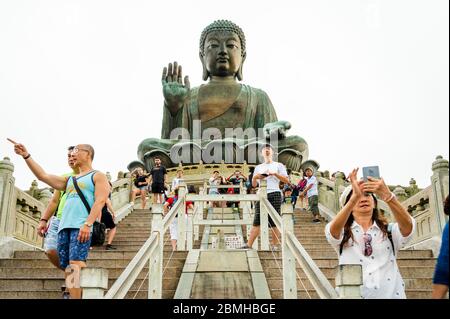
[[[74,148],[75,146],[70,146],[67,149],[67,164],[72,169],[72,172],[63,175],[64,177],[77,175],[79,173],[78,167],[75,166],[75,160],[72,154]],[[44,251],[47,258],[58,269],[61,269],[58,257],[58,228],[66,204],[66,199],[67,194],[65,191],[54,191],[50,203],[48,203],[47,208],[41,216],[37,229],[38,235],[41,237],[44,236]]]

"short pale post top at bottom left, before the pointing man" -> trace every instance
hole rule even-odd
[[[108,289],[108,270],[103,268],[82,268],[80,287],[83,299],[102,299]]]

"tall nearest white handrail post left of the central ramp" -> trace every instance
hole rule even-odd
[[[149,261],[148,299],[162,299],[162,273],[164,257],[164,229],[162,225],[162,204],[152,205],[152,233],[158,233],[158,249]]]

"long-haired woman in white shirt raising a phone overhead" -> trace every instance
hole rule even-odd
[[[398,270],[399,249],[412,238],[415,221],[383,179],[357,180],[343,192],[341,211],[325,227],[328,242],[339,254],[339,265],[360,264],[365,299],[405,299],[405,284]],[[396,223],[389,224],[378,210],[378,199],[389,205]]]

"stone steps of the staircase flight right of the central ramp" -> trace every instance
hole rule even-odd
[[[338,256],[325,238],[325,222],[311,223],[312,217],[305,210],[296,209],[295,235],[316,262],[330,283],[335,285]],[[283,298],[281,252],[259,252],[261,264],[273,299]],[[431,298],[432,278],[436,259],[431,250],[402,250],[397,257],[406,295],[409,299]],[[305,273],[297,263],[297,288],[299,298],[319,298]]]

